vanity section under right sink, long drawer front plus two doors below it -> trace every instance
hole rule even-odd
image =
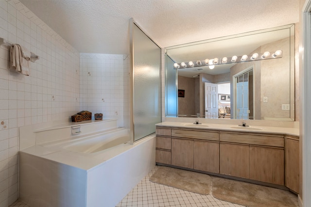
[[[284,185],[284,136],[221,132],[220,174]]]

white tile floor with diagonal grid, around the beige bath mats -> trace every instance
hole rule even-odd
[[[157,166],[146,175],[117,205],[117,207],[243,207],[214,198],[211,194],[201,195],[183,191],[149,181]],[[298,207],[297,196],[289,192],[289,196]],[[16,201],[10,207],[30,207]]]

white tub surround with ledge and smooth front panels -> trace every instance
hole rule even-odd
[[[81,133],[72,134],[77,126]],[[155,167],[155,135],[95,153],[64,146],[125,132],[114,119],[21,128],[20,200],[32,207],[116,206]]]

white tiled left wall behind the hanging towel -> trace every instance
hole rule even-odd
[[[8,207],[18,197],[18,127],[80,110],[79,52],[18,0],[0,0],[0,37],[40,57],[24,76],[8,68],[0,46],[0,207]]]

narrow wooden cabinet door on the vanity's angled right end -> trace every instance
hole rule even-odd
[[[286,138],[285,150],[285,185],[287,188],[299,192],[299,140]]]

